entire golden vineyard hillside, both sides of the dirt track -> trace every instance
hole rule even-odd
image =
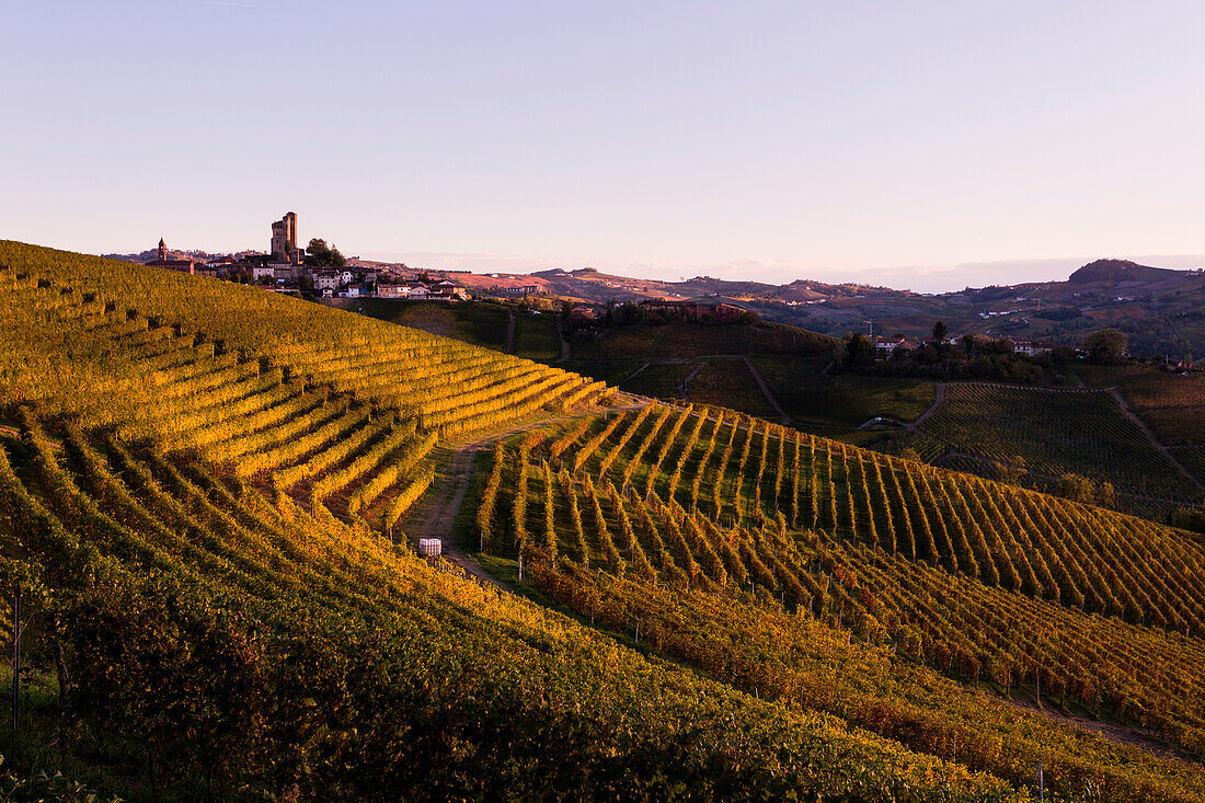
[[[1205,798],[1181,531],[214,280],[0,289],[24,797]]]

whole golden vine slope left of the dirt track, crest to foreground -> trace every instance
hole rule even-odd
[[[336,350],[282,299],[259,312],[282,304],[284,334],[257,352],[268,323],[219,326],[243,291],[169,277],[196,298],[151,299],[148,317],[143,295],[34,262],[0,269],[0,578],[23,598],[36,692],[5,767],[134,799],[1021,799],[647,660],[365,526],[412,500],[440,429],[576,404],[596,393],[586,380],[342,317],[352,346]],[[445,402],[459,385],[469,402]]]

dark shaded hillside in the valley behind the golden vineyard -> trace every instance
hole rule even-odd
[[[1156,521],[1205,500],[1195,426],[1205,385],[1195,374],[1082,362],[1069,369],[1081,383],[1100,388],[1092,393],[860,376],[828,370],[833,339],[764,322],[602,323],[568,333],[570,359],[562,362],[553,345],[554,321],[513,306],[340,304],[494,347],[504,342],[505,316],[511,315],[521,334],[528,328],[541,335],[542,350],[524,356],[623,391],[727,406],[892,455],[911,450],[934,465],[1047,492],[1072,473],[1110,483],[1111,506]],[[492,339],[478,340],[477,333]],[[1111,392],[1115,386],[1121,394]]]

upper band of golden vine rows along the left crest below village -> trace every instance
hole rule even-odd
[[[49,404],[71,398],[98,421],[145,417],[137,408],[152,398],[149,389],[178,377],[128,374],[155,371],[160,363],[170,371],[175,363],[166,352],[181,347],[181,339],[208,348],[231,369],[228,376],[190,377],[192,385],[178,388],[187,394],[211,386],[233,394],[239,388],[231,383],[280,367],[282,382],[329,385],[412,412],[421,428],[442,434],[490,427],[549,404],[572,406],[605,389],[556,368],[263,289],[18,242],[0,241],[0,287],[14,291],[4,315],[8,347],[22,350],[16,362],[23,367],[6,375],[5,385]],[[108,353],[95,339],[77,341],[77,329],[143,351]],[[153,362],[135,365],[143,359]],[[87,376],[110,377],[74,386],[63,363],[80,361],[100,363],[89,365]],[[133,409],[114,410],[106,393],[127,397]]]

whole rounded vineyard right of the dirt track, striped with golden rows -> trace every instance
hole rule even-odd
[[[976,754],[983,705],[906,668],[1036,690],[1205,750],[1205,552],[1165,527],[746,416],[663,406],[499,449],[477,523],[487,550],[543,567],[537,586],[581,615],[642,628],[668,655],[747,691],[803,693],[884,735],[911,733],[903,740],[919,750],[941,722],[965,733],[968,766],[1013,780],[1010,762],[1045,746],[1069,793],[1086,778],[1110,779],[1104,799],[1205,791],[1199,775],[1152,764],[1152,784],[1193,791],[1142,798],[1123,780],[1129,754],[1089,750],[1015,711],[992,720],[1001,743]],[[789,641],[759,629],[768,605]],[[817,632],[886,646],[907,660],[892,672],[909,682],[834,690],[831,664],[784,646]],[[935,685],[940,693],[919,691]]]

